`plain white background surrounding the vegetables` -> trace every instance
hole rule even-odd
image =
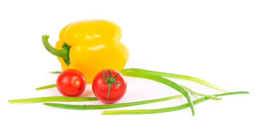
[[[0,131],[255,132],[255,7],[255,0],[3,0]],[[34,90],[55,83],[58,75],[47,72],[61,70],[56,57],[44,49],[41,36],[48,34],[54,46],[60,29],[67,23],[95,18],[112,20],[122,28],[121,41],[131,53],[125,68],[190,75],[250,94],[197,104],[194,117],[189,108],[151,115],[101,115],[103,110],[8,103],[12,99],[61,96],[55,88]],[[197,83],[172,80],[201,93],[221,93]],[[127,93],[118,103],[179,94],[151,80],[127,77],[127,81]],[[93,97],[90,84],[83,96]],[[198,97],[192,96],[195,98]],[[117,109],[157,109],[183,103],[185,98]]]

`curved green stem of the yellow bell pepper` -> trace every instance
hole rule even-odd
[[[61,50],[55,49],[54,47],[52,47],[49,44],[48,38],[49,38],[49,35],[42,36],[42,41],[43,41],[45,49],[47,49],[47,51],[50,52],[52,55],[69,60],[69,49],[67,47],[63,47]]]

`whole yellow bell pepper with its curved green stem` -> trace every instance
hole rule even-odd
[[[102,69],[121,72],[129,58],[128,48],[120,42],[120,27],[109,20],[79,20],[64,26],[52,47],[43,35],[44,47],[57,56],[62,71],[77,69],[87,83]]]

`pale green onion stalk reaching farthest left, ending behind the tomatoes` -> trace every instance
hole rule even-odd
[[[67,101],[67,102],[81,102],[81,101],[96,101],[96,97],[65,97],[65,96],[53,96],[53,97],[40,97],[40,98],[26,98],[17,100],[8,100],[9,103],[37,103],[37,102],[49,102],[49,101]]]

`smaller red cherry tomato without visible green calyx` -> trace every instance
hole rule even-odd
[[[86,87],[83,74],[76,69],[67,69],[58,75],[56,86],[61,95],[79,97]]]

